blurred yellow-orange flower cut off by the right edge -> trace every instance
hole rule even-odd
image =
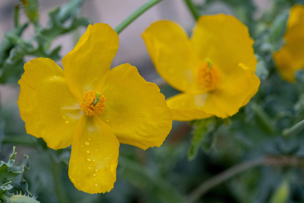
[[[304,67],[304,6],[290,10],[284,35],[286,44],[273,54],[275,65],[284,80],[295,81],[295,71]]]

